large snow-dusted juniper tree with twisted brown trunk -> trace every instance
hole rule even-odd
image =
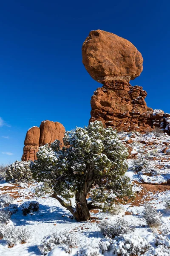
[[[57,140],[40,147],[31,169],[34,178],[48,184],[53,197],[77,221],[89,220],[91,209],[107,210],[116,196],[131,194],[125,176],[128,152],[116,131],[105,129],[102,122],[91,122],[67,131],[63,143],[62,149]],[[75,198],[74,206],[71,198]]]

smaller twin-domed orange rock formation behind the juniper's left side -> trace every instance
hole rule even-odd
[[[42,121],[40,128],[34,126],[27,131],[24,141],[22,161],[36,160],[38,148],[46,143],[50,144],[54,140],[59,140],[62,146],[62,138],[65,134],[65,128],[59,122]]]

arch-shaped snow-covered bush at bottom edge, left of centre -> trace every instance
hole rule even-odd
[[[73,247],[77,244],[76,237],[68,231],[54,232],[42,239],[39,250],[42,255],[46,255],[55,245],[62,246],[63,249],[71,253]]]

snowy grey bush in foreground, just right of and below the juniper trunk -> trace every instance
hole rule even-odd
[[[99,228],[104,236],[108,236],[110,238],[130,233],[131,230],[133,230],[133,228],[130,227],[128,222],[123,218],[118,219],[115,224],[111,223],[111,221],[103,220],[99,223]]]

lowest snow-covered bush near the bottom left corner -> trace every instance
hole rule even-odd
[[[4,232],[3,239],[6,240],[8,247],[20,243],[26,243],[30,237],[30,232],[24,227],[8,227]]]

